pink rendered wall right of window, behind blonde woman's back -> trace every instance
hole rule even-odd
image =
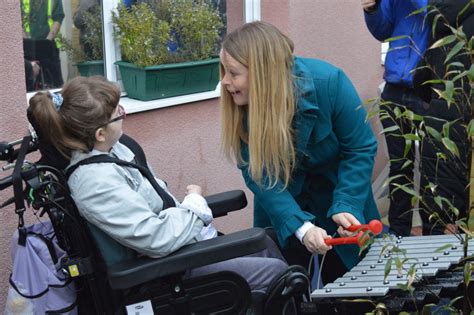
[[[382,83],[380,43],[365,26],[359,0],[262,0],[262,20],[276,25],[295,43],[297,55],[326,60],[341,68],[365,102],[377,96]],[[378,134],[374,178],[387,163]]]

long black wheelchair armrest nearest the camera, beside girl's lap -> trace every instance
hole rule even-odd
[[[163,258],[120,262],[108,268],[110,287],[127,289],[187,269],[253,254],[265,249],[265,237],[263,229],[252,228],[186,245]]]

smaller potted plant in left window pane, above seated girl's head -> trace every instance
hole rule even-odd
[[[104,75],[102,15],[99,5],[79,7],[74,25],[80,31],[80,45],[58,34],[61,50],[77,67],[82,76]]]

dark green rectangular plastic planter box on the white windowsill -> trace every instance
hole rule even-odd
[[[142,101],[213,91],[219,82],[219,58],[143,68],[115,64],[128,97]]]

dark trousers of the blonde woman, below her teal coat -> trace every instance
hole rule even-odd
[[[292,236],[289,242],[290,247],[282,250],[283,257],[285,257],[288,265],[300,265],[308,269],[311,253],[308,252],[306,247],[304,247],[295,236]],[[322,258],[323,256],[318,256],[320,263]],[[321,269],[321,280],[323,284],[334,282],[337,278],[342,277],[346,272],[347,268],[339,258],[336,251],[328,251]]]

